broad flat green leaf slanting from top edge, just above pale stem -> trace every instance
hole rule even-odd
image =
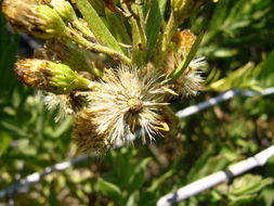
[[[114,36],[107,29],[106,25],[100,18],[96,11],[92,8],[88,0],[77,0],[77,7],[88,22],[94,36],[103,43],[109,46],[118,52],[122,52],[119,43],[116,41]]]

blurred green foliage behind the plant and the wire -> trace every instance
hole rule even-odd
[[[209,66],[205,91],[196,99],[174,100],[174,110],[227,89],[274,86],[273,0],[220,0],[204,7],[184,27],[196,34],[206,30],[198,55]],[[1,14],[0,190],[77,155],[70,138],[73,119],[55,123],[55,112],[45,110],[42,93],[16,80],[13,64],[31,53],[27,47],[18,35],[6,31]],[[235,98],[182,119],[180,133],[172,138],[147,145],[136,141],[134,146],[89,158],[8,195],[0,205],[153,206],[164,194],[273,144],[273,95]],[[178,205],[271,206],[273,173],[274,158]]]

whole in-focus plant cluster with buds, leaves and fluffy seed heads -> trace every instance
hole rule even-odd
[[[203,33],[196,38],[180,25],[206,1],[171,1],[167,23],[167,1],[74,3],[3,2],[15,30],[47,40],[32,59],[18,60],[18,79],[47,92],[49,108],[75,116],[80,152],[100,155],[136,137],[146,142],[174,132],[169,100],[196,95],[206,65],[204,57],[193,60]]]

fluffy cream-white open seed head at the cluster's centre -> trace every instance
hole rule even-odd
[[[129,142],[136,134],[145,142],[161,130],[169,130],[162,121],[161,111],[168,104],[168,89],[162,76],[152,69],[120,66],[107,70],[99,90],[90,95],[90,111],[99,134],[109,142]]]

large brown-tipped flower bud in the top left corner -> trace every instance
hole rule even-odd
[[[58,13],[39,0],[5,0],[2,11],[18,31],[43,39],[60,37],[65,33],[65,23]]]

